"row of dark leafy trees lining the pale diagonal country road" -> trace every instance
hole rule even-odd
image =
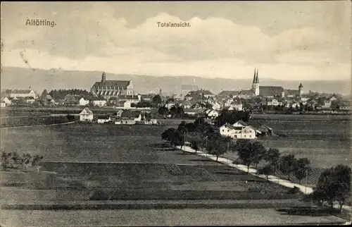
[[[230,137],[223,137],[216,126],[210,125],[203,118],[197,118],[194,123],[182,121],[177,128],[166,129],[161,138],[171,146],[180,146],[181,149],[187,143],[196,151],[204,152],[205,149],[208,154],[216,156],[216,161],[222,154],[236,152],[239,163],[234,161],[235,164],[243,164],[248,170],[250,166],[258,168],[259,162],[265,161],[265,166],[258,169],[258,173],[267,176],[267,180],[268,176],[279,170],[287,175],[287,180],[295,176],[301,184],[301,180],[307,178],[311,171],[310,161],[306,158],[296,159],[293,154],[281,156],[278,149],[266,149],[256,140],[232,140]],[[293,190],[299,192],[298,188]],[[313,193],[308,197],[320,204],[326,202],[331,207],[334,202],[339,202],[341,211],[350,196],[351,168],[337,165],[321,173]]]

